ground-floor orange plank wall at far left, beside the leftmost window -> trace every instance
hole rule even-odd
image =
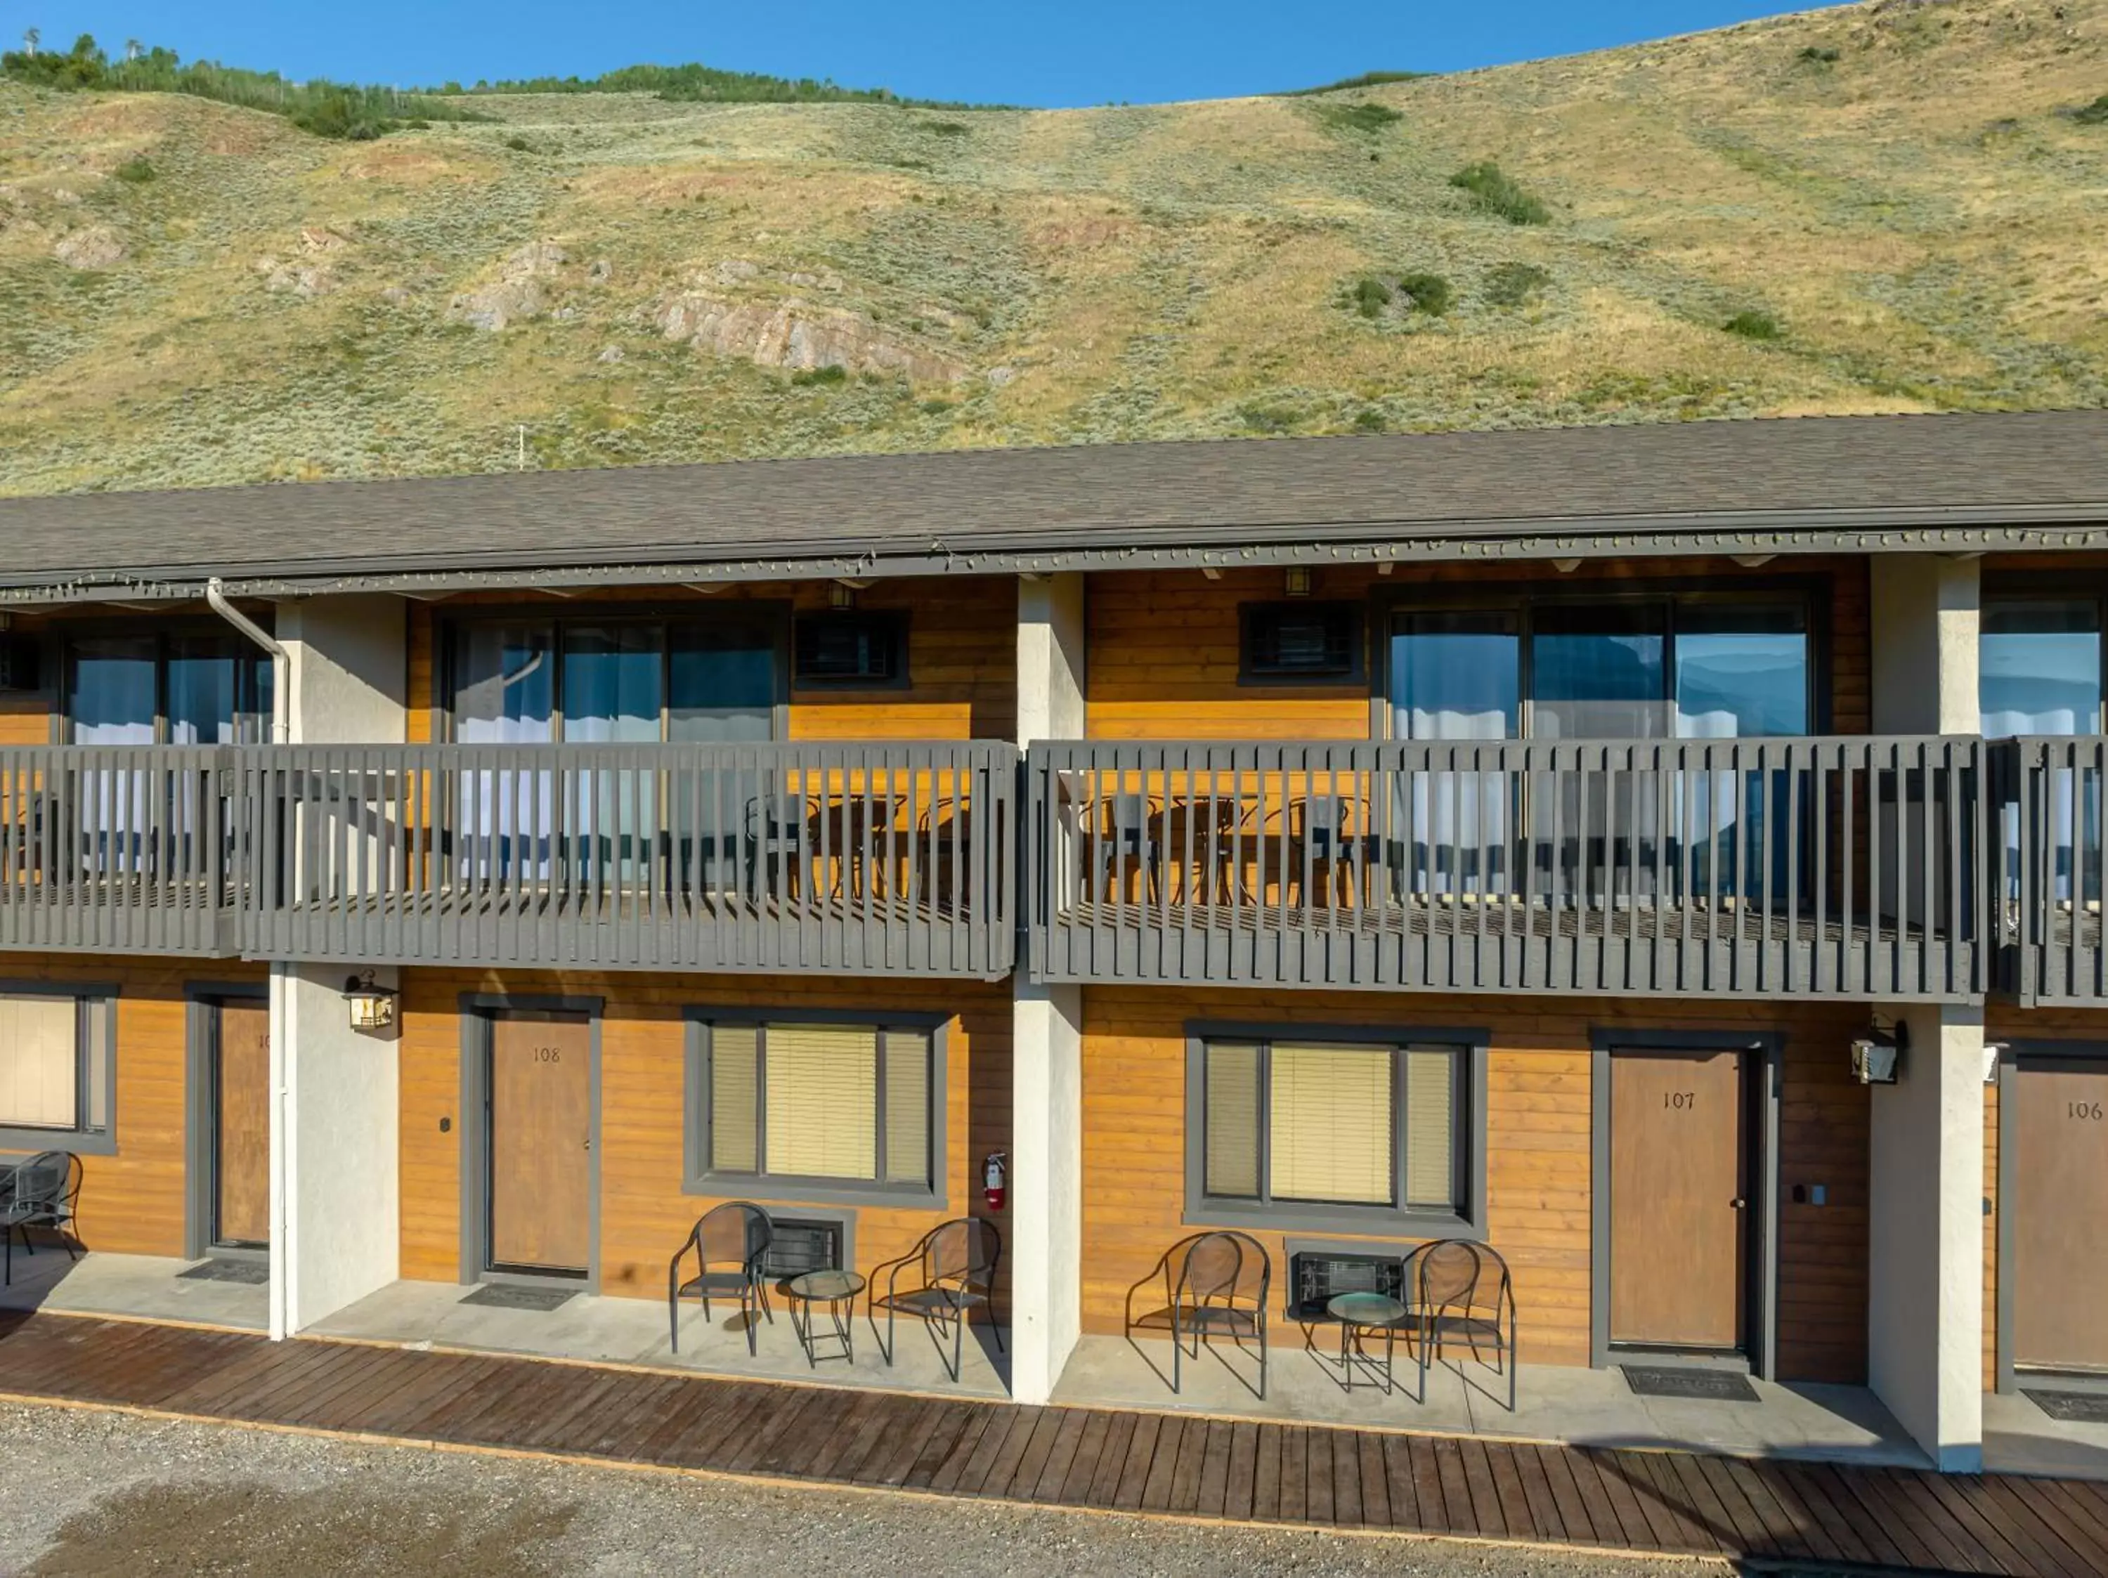
[[[118,988],[114,1157],[80,1159],[80,1239],[133,1256],[183,1254],[183,1079],[190,982],[261,982],[261,965],[232,959],[103,959],[0,954],[0,978]],[[63,1138],[55,1138],[63,1150]]]

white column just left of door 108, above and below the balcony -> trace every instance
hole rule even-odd
[[[405,605],[282,603],[293,744],[401,744]],[[350,1028],[344,965],[272,965],[272,1336],[291,1336],[398,1273],[394,1034]],[[396,986],[394,971],[373,971]]]

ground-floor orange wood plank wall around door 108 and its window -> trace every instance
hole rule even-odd
[[[485,973],[409,969],[401,1039],[403,1275],[457,1281],[462,1224],[462,992],[605,999],[601,1026],[601,1285],[666,1296],[666,1262],[717,1197],[685,1195],[683,1009],[953,1011],[944,1089],[944,1209],[856,1207],[868,1270],[953,1216],[987,1216],[980,1161],[1010,1150],[1010,986],[828,978]],[[451,1131],[441,1133],[441,1119]],[[765,1192],[755,1195],[778,1205]],[[795,1203],[782,1205],[795,1214]],[[812,1209],[837,1209],[816,1205]],[[1008,1241],[1008,1216],[995,1218]],[[1003,1270],[1003,1289],[1010,1273]]]

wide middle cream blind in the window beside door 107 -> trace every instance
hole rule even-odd
[[[1391,1203],[1393,1068],[1389,1047],[1273,1045],[1273,1199]]]

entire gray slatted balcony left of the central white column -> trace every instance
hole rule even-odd
[[[1016,750],[0,752],[0,946],[1001,978]]]

